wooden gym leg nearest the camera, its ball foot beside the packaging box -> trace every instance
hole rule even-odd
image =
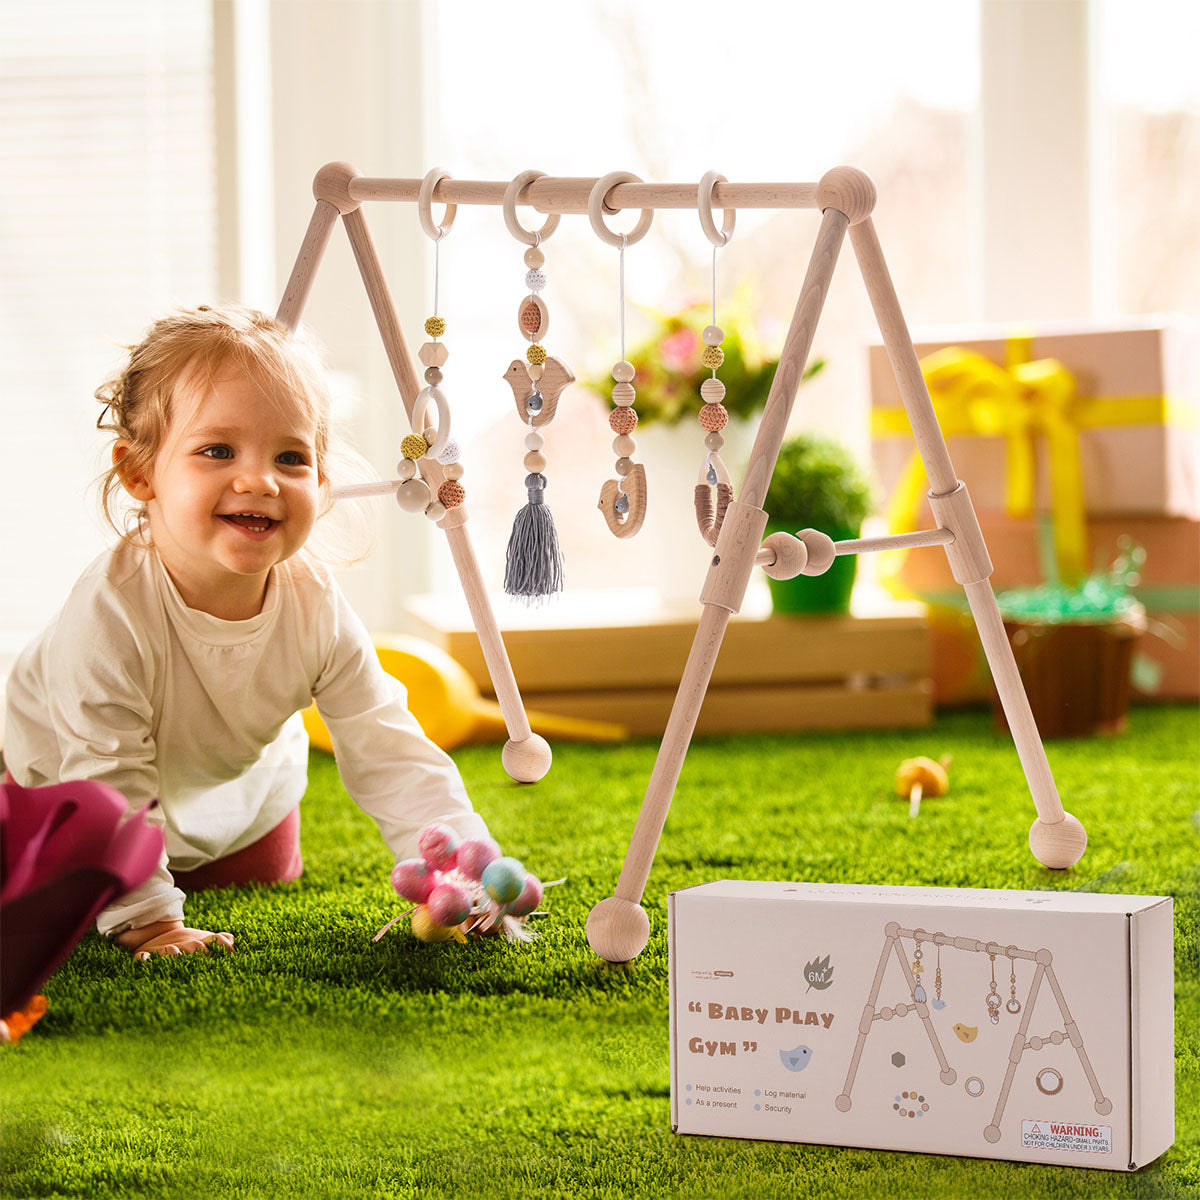
[[[740,606],[746,584],[750,582],[750,572],[755,566],[755,556],[767,523],[767,514],[762,510],[767,485],[770,482],[779,448],[787,431],[787,419],[796,400],[804,364],[812,347],[812,335],[829,292],[829,281],[838,263],[838,252],[847,224],[847,217],[835,209],[827,209],[822,215],[821,230],[800,287],[796,313],[784,343],[770,395],[767,397],[758,436],[750,452],[745,481],[738,500],[730,505],[721,524],[716,553],[713,556],[713,565],[709,568],[701,593],[704,608],[679,682],[679,690],[676,692],[662,744],[637,816],[637,824],[634,827],[617,889],[613,895],[595,905],[588,916],[588,942],[596,954],[610,962],[626,962],[636,958],[649,938],[649,918],[640,901],[650,875],[659,838],[662,835],[662,826],[671,809],[684,756],[688,754],[704,702],[708,680],[716,665],[725,628],[730,617]]]

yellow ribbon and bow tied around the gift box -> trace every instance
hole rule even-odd
[[[1050,516],[1062,582],[1087,569],[1087,524],[1079,432],[1120,425],[1163,424],[1172,415],[1163,396],[1079,396],[1075,378],[1056,359],[1031,360],[1031,338],[1009,337],[1006,366],[961,347],[946,347],[920,360],[934,413],[946,438],[1002,437],[1006,442],[1006,508],[1013,517],[1033,512],[1036,446],[1045,440],[1050,460]],[[911,436],[902,408],[871,413],[875,437]],[[913,451],[888,504],[893,533],[916,527],[926,492],[924,464]],[[898,574],[900,562],[886,574]]]

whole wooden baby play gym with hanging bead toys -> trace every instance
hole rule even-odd
[[[416,203],[421,226],[434,245],[449,232],[457,205],[503,206],[509,230],[528,247],[524,257],[529,268],[524,280],[528,295],[518,306],[518,328],[532,344],[524,362],[515,360],[504,373],[512,389],[517,413],[529,427],[524,458],[528,504],[518,514],[514,527],[505,580],[505,590],[518,595],[541,594],[557,587],[556,551],[547,552],[546,548],[551,534],[542,500],[546,456],[541,452],[545,445],[540,431],[563,403],[563,392],[574,377],[541,346],[541,337],[548,326],[548,311],[539,292],[545,282],[541,270],[545,256],[540,244],[553,232],[560,215],[587,214],[598,236],[619,248],[623,312],[624,251],[644,236],[656,209],[696,209],[714,246],[714,263],[718,248],[728,240],[738,209],[817,209],[821,212],[816,244],[745,479],[736,497],[719,455],[720,430],[725,424],[720,400],[725,389],[718,379],[721,330],[715,314],[713,324],[704,331],[703,361],[706,367],[712,367],[713,378],[704,380],[700,396],[703,401],[700,420],[706,431],[708,452],[702,479],[696,486],[696,512],[701,534],[712,546],[710,565],[700,594],[701,613],[695,637],[620,877],[613,895],[601,900],[588,918],[587,936],[596,954],[613,962],[628,961],[646,946],[649,919],[641,907],[641,899],[726,626],[732,614],[739,611],[756,566],[775,578],[792,578],[800,574],[824,572],[838,554],[940,546],[947,554],[954,580],[966,594],[1037,809],[1037,820],[1030,829],[1030,847],[1046,866],[1067,868],[1079,860],[1087,838],[1080,822],[1063,811],[1030,712],[989,582],[991,562],[979,522],[966,484],[958,479],[950,462],[871,221],[876,192],[868,175],[851,167],[836,167],[815,184],[731,184],[724,176],[709,173],[696,185],[646,184],[624,172],[613,172],[599,179],[552,178],[524,172],[510,182],[490,182],[456,180],[440,170],[432,170],[424,179],[370,178],[346,163],[330,163],[317,173],[313,193],[317,206],[280,304],[278,319],[289,329],[298,325],[332,227],[341,216],[413,430],[400,448],[402,457],[397,479],[346,488],[341,494],[394,493],[402,508],[424,511],[444,530],[508,727],[509,740],[502,760],[508,773],[524,782],[534,782],[546,774],[551,751],[529,727],[467,533],[466,490],[460,482],[463,469],[450,438],[450,408],[440,388],[448,352],[439,341],[446,323],[437,312],[437,287],[434,283],[433,316],[425,323],[430,341],[421,346],[419,355],[424,367],[422,386],[362,205],[377,200]],[[434,203],[446,206],[440,224],[434,223],[432,217]],[[516,220],[518,203],[546,215],[547,220],[539,230],[524,229]],[[714,221],[714,208],[724,210],[721,228]],[[625,210],[640,210],[638,221],[628,233],[614,233],[605,216]],[[763,540],[768,515],[762,505],[847,233],[929,479],[929,503],[937,528],[838,542],[820,530],[803,529],[794,535],[775,533]],[[622,355],[613,367],[614,407],[610,416],[610,426],[616,434],[617,478],[602,484],[599,504],[605,526],[618,538],[636,534],[647,503],[653,503],[644,468],[632,461],[636,445],[631,433],[637,424],[632,385],[635,371],[635,366],[624,358],[622,320]],[[544,560],[545,569],[536,581],[530,582],[529,564],[538,556]]]

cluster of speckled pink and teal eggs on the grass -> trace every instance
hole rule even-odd
[[[532,942],[538,935],[527,926],[540,916],[542,883],[515,858],[500,854],[494,838],[467,838],[445,824],[426,826],[418,839],[420,858],[406,858],[392,868],[391,886],[409,900],[372,941],[378,942],[402,917],[409,917],[413,935],[422,942],[466,943],[486,934],[510,942]]]

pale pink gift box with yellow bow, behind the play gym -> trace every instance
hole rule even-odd
[[[948,329],[916,349],[926,379],[931,361],[938,376],[930,396],[978,512],[1051,511],[1055,443],[1064,438],[1078,448],[1088,515],[1200,518],[1200,338],[1182,319],[1046,325],[1032,336]],[[962,371],[947,361],[952,349],[964,352]],[[972,371],[971,355],[982,370]],[[869,347],[868,365],[874,463],[884,494],[894,496],[916,445],[882,344]],[[923,473],[919,482],[908,516],[924,527],[928,506],[916,504],[928,490]]]

